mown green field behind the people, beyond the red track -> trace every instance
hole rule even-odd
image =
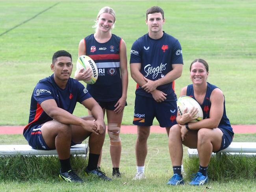
[[[27,124],[33,88],[39,79],[52,74],[52,54],[67,50],[76,63],[78,42],[94,32],[91,26],[101,7],[115,9],[113,33],[125,40],[129,59],[132,43],[147,33],[145,11],[154,5],[163,7],[163,28],[182,45],[184,72],[176,81],[177,95],[190,83],[191,61],[201,57],[210,65],[209,82],[224,92],[230,122],[256,124],[253,0],[0,0],[0,125]],[[135,82],[129,75],[123,124],[132,124],[134,91]],[[87,111],[78,106],[74,114],[82,116]]]

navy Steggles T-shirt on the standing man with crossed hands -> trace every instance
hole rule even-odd
[[[163,31],[160,39],[152,39],[148,33],[137,39],[132,45],[130,65],[141,63],[141,74],[156,81],[173,70],[172,64],[183,64],[182,48],[178,39]],[[176,101],[173,82],[157,87],[166,96],[165,101]],[[136,95],[152,98],[152,94],[137,85]]]

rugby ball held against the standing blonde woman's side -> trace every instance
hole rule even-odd
[[[93,61],[93,59],[91,59],[91,57],[88,57],[87,55],[81,55],[76,62],[76,72],[75,75],[79,72],[79,70],[83,68],[83,72],[87,69],[90,68],[93,72],[93,74],[91,75],[91,78],[87,81],[84,80],[85,83],[87,84],[94,84],[96,83],[97,79],[98,79],[98,68],[95,64],[95,62]]]

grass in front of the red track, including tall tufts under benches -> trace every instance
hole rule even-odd
[[[198,169],[198,160],[189,159],[184,148],[184,168],[186,171],[184,186],[167,186],[166,182],[173,175],[168,151],[166,134],[150,134],[148,138],[148,155],[146,159],[144,181],[132,181],[136,172],[135,144],[136,135],[122,135],[121,179],[104,182],[83,175],[87,160],[82,157],[72,159],[73,168],[78,171],[84,184],[70,184],[59,181],[59,162],[57,157],[5,157],[0,158],[0,191],[255,191],[256,159],[223,156],[220,161],[212,158],[209,166],[210,182],[205,186],[187,185],[190,173]],[[234,141],[256,142],[256,134],[236,134]],[[22,135],[0,135],[1,144],[26,144]],[[234,161],[234,159],[236,161]],[[224,160],[224,161],[223,161]],[[228,162],[228,163],[227,163]],[[254,164],[249,164],[250,162]],[[234,166],[232,166],[234,165]],[[102,165],[107,175],[111,175],[109,141],[105,140]],[[221,168],[224,167],[224,170]],[[252,171],[250,171],[252,170]],[[226,172],[228,179],[223,177]],[[218,177],[216,177],[216,175]],[[214,176],[214,177],[213,177]],[[209,187],[208,189],[206,188]]]

